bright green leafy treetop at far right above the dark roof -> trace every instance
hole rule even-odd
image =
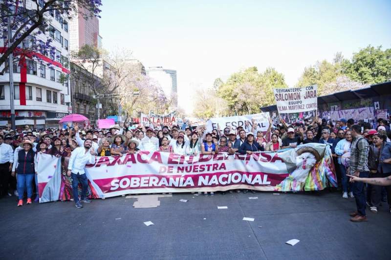
[[[351,60],[344,60],[342,66],[351,80],[369,84],[391,80],[391,49],[369,45],[353,53]]]

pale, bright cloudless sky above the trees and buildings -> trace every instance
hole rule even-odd
[[[305,66],[338,51],[391,47],[390,0],[103,0],[101,16],[104,48],[177,70],[188,112],[195,87],[249,66],[275,67],[293,86]]]

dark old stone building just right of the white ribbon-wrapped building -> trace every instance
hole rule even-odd
[[[98,119],[97,100],[93,99],[92,84],[99,88],[101,83],[101,78],[71,62],[72,113],[85,116],[91,125],[95,125]]]

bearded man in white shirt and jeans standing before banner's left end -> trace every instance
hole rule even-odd
[[[84,171],[84,167],[87,163],[94,163],[95,158],[93,155],[95,154],[94,148],[92,147],[92,140],[86,139],[84,141],[83,147],[77,147],[72,151],[72,154],[69,159],[68,164],[68,172],[67,175],[72,177],[72,192],[73,199],[75,200],[75,207],[82,208],[83,205],[80,202],[89,203],[91,200],[86,198],[87,188],[88,188],[88,180],[86,176],[86,172]],[[83,186],[82,194],[80,196],[77,191],[77,186],[80,183]]]

